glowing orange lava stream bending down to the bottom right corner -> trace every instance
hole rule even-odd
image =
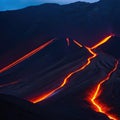
[[[110,115],[109,113],[107,113],[107,110],[103,109],[102,103],[98,103],[96,101],[96,98],[99,96],[99,92],[101,91],[101,86],[103,83],[105,83],[107,80],[109,80],[109,78],[111,77],[112,73],[116,71],[117,66],[118,66],[118,61],[115,63],[114,68],[107,74],[106,78],[104,78],[96,87],[96,89],[94,90],[94,93],[92,94],[92,97],[90,96],[88,99],[90,99],[90,102],[92,103],[92,105],[95,107],[95,111],[97,112],[101,112],[103,114],[106,114],[108,116],[109,119],[112,120],[117,120],[116,117],[114,117],[113,115]],[[107,107],[106,107],[107,108]]]

